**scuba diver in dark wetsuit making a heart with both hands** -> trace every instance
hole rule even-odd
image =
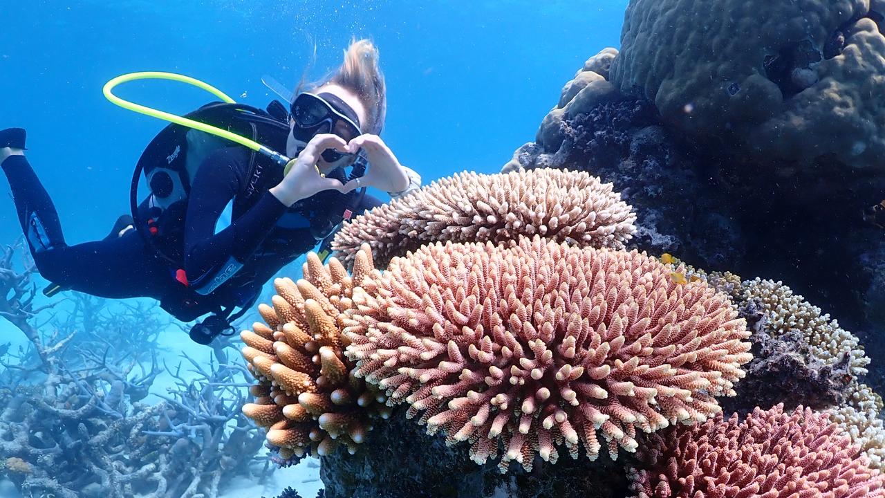
[[[403,167],[378,136],[386,87],[370,41],[351,42],[342,66],[320,82],[299,84],[288,110],[274,102],[276,108],[272,103],[258,116],[265,121],[247,124],[277,125],[265,138],[295,158],[285,170],[225,143],[191,170],[182,166],[170,175],[179,156],[193,161],[198,154],[182,153],[182,146],[197,148],[193,136],[185,141],[183,132],[173,133],[186,128],[167,128],[172,131],[151,143],[157,145],[153,149],[165,146],[163,152],[149,154],[149,145],[142,154],[161,167],[144,169],[152,193],[134,209],[135,220],[121,216],[108,237],[78,245],[65,244],[55,206],[24,155],[25,130],[0,131],[0,167],[35,265],[52,283],[44,293],[150,297],[183,322],[212,313],[190,331],[190,338],[209,344],[234,332],[230,323],[254,305],[278,270],[318,243],[327,254],[343,220],[380,206],[366,187],[396,198],[419,186],[419,175]],[[135,192],[137,176],[133,182]],[[164,203],[165,198],[181,201]],[[231,222],[219,230],[229,203]],[[240,310],[233,313],[235,307]]]

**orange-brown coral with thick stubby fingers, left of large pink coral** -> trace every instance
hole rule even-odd
[[[277,278],[273,307],[260,305],[266,323],[241,333],[242,356],[258,378],[253,403],[242,412],[268,428],[267,442],[283,459],[307,452],[327,455],[338,444],[353,453],[372,428],[374,416],[389,416],[377,388],[354,377],[342,351],[343,312],[353,307],[354,279],[373,268],[366,251],[358,255],[354,276],[331,258],[327,266],[307,255],[304,278]]]

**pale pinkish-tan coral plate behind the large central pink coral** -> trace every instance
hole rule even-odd
[[[519,235],[620,248],[635,232],[635,219],[611,183],[585,172],[458,173],[357,216],[332,247],[351,261],[367,242],[380,267],[431,242],[501,242]]]

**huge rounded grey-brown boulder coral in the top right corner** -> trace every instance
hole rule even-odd
[[[632,0],[611,81],[690,136],[881,169],[881,0]]]

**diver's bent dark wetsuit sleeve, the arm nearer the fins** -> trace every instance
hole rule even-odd
[[[185,272],[191,281],[217,271],[230,258],[246,261],[286,210],[266,191],[256,204],[215,233],[227,203],[246,181],[249,155],[233,148],[215,152],[197,170],[188,203],[184,237]]]

